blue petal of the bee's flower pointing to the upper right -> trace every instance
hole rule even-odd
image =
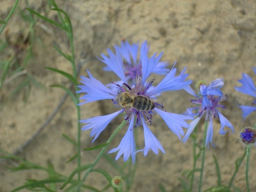
[[[188,76],[188,74],[185,74],[185,70],[186,68],[181,71],[180,75],[174,77],[176,68],[173,68],[153,90],[148,92],[148,96],[150,97],[164,91],[181,90],[190,85],[192,81],[185,81]]]

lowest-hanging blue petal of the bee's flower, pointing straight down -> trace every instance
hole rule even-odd
[[[115,160],[117,160],[119,157],[121,157],[122,154],[124,154],[124,161],[127,161],[131,155],[132,162],[134,164],[135,163],[135,141],[133,137],[134,115],[132,116],[130,122],[131,123],[127,129],[127,132],[125,133],[119,146],[117,148],[111,149],[108,153],[114,153],[119,150]]]

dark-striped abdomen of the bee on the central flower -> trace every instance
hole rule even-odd
[[[138,95],[133,102],[133,107],[139,111],[148,111],[155,108],[153,101],[149,98]]]

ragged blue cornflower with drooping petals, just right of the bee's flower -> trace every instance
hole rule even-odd
[[[202,116],[205,114],[205,121],[209,122],[207,127],[207,135],[205,146],[209,147],[209,142],[212,143],[213,138],[213,122],[212,119],[219,117],[221,128],[219,133],[225,134],[227,131],[224,131],[224,127],[229,127],[234,133],[233,125],[224,117],[218,107],[226,109],[225,106],[220,105],[221,101],[227,99],[227,95],[223,95],[220,88],[224,85],[223,79],[215,79],[210,85],[201,84],[199,85],[200,92],[196,94],[190,86],[186,87],[185,90],[191,95],[195,96],[197,99],[191,99],[190,101],[197,105],[197,107],[188,108],[185,115],[197,116],[189,125],[188,131],[183,138],[183,142],[186,142],[189,138],[189,135],[194,130],[197,123],[200,121]]]

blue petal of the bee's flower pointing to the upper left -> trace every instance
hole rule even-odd
[[[122,79],[123,82],[127,83],[126,77],[124,75],[123,59],[119,49],[116,49],[116,55],[110,49],[107,49],[107,51],[109,54],[109,58],[106,55],[101,54],[103,59],[98,59],[106,63],[106,65],[111,70],[113,70],[115,74]]]

